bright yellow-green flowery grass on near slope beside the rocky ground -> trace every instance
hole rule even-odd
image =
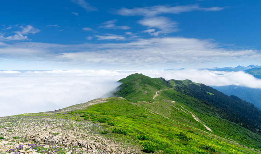
[[[77,112],[78,116],[86,113],[96,119],[107,117],[113,120],[115,125],[109,126],[103,131],[129,137],[135,143],[140,144],[144,152],[204,153],[206,150],[200,146],[206,145],[215,148],[216,153],[255,153],[199,129],[191,130],[191,127],[169,120],[159,114],[153,114],[147,109],[121,98],[112,97],[106,103],[92,105]],[[117,138],[117,136],[114,137]]]

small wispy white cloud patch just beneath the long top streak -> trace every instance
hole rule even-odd
[[[143,26],[148,26],[148,28],[158,28],[159,31],[155,29],[143,30],[143,32],[149,33],[151,35],[158,36],[159,34],[167,34],[178,31],[178,23],[171,21],[167,17],[152,17],[152,18],[143,18],[138,21],[139,24]]]

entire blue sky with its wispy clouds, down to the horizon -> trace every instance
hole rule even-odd
[[[261,65],[260,1],[0,2],[0,70]]]

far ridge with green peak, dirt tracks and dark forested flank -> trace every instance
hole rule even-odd
[[[127,84],[130,90],[136,90],[136,92],[143,91],[143,88],[135,86],[138,84],[142,87],[142,84],[139,83],[142,82],[140,78],[150,81],[160,80],[159,78],[149,78],[144,75],[138,76],[139,79],[137,78],[137,74],[135,74],[120,80],[122,85],[116,94],[123,96],[121,93],[125,91],[124,85]],[[130,81],[132,83],[135,82],[135,85],[132,86]],[[247,146],[261,147],[260,143],[258,143],[261,141],[261,137],[258,135],[260,133],[261,112],[253,104],[235,97],[228,97],[211,87],[193,83],[190,80],[162,80],[162,82],[170,83],[171,87],[164,87],[164,89],[159,87],[151,88],[154,92],[160,89],[162,91],[158,92],[160,95],[155,99],[153,97],[156,93],[150,94],[150,97],[147,95],[147,102],[142,100],[142,96],[140,98],[141,101],[139,101],[139,96],[136,96],[135,102],[138,102],[140,106],[150,111],[155,111],[183,124],[206,130],[203,126],[204,124],[219,136],[237,140]],[[151,85],[149,86],[152,87]],[[125,94],[123,97],[128,98],[127,100],[129,101],[133,100],[128,94]],[[186,112],[182,107],[197,115],[203,124],[199,124],[191,119],[191,114]]]

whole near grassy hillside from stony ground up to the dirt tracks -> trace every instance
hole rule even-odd
[[[157,101],[151,103],[156,105]],[[91,105],[82,110],[68,111],[63,118],[99,122],[102,124],[100,133],[110,134],[110,138],[118,141],[124,140],[141,146],[143,152],[162,154],[260,152],[210,133],[201,127],[200,123],[196,123],[186,110],[186,113],[182,111],[178,114],[188,118],[187,123],[192,126],[183,124],[179,119],[152,111],[146,108],[148,104],[150,102],[130,103],[119,97],[111,97],[105,103]],[[178,104],[175,106],[179,110],[183,109]],[[176,111],[176,108],[173,110]],[[58,113],[52,116],[59,115]],[[193,123],[196,123],[195,127]]]

